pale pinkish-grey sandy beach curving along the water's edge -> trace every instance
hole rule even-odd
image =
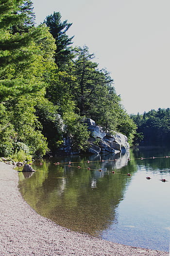
[[[17,171],[0,162],[0,256],[168,256],[70,231],[38,215],[22,198]]]

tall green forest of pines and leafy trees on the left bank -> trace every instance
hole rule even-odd
[[[132,145],[136,118],[88,47],[73,47],[72,24],[60,12],[38,26],[34,20],[31,0],[0,0],[0,156],[40,157],[66,138],[85,152],[84,118],[126,135]]]

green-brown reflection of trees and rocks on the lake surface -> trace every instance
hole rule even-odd
[[[59,159],[64,163],[73,162],[71,168],[68,164],[54,165],[54,159],[44,161],[43,166],[34,166],[37,172],[33,177],[20,182],[21,193],[43,216],[75,231],[97,236],[117,222],[116,208],[124,197],[127,181],[131,179],[123,169],[119,171],[127,165],[129,153],[123,153],[113,161],[115,158],[118,156],[109,154]],[[87,160],[92,162],[87,163]],[[88,167],[92,171],[87,170]],[[102,172],[94,169],[102,169]],[[130,169],[132,172],[134,167]],[[118,170],[119,175],[113,175],[112,170]],[[46,174],[44,178],[42,173]]]

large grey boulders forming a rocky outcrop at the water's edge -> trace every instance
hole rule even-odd
[[[101,126],[96,125],[95,121],[90,118],[86,118],[85,123],[87,124],[88,131],[91,133],[89,153],[117,154],[130,149],[128,139],[125,135],[114,131],[112,133],[106,133]]]

